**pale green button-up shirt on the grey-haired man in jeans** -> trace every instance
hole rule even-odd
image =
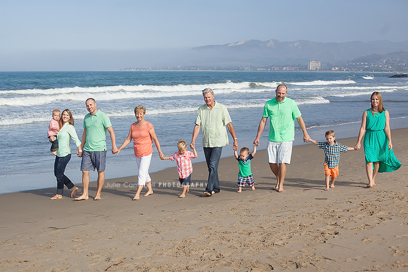
[[[195,123],[202,128],[202,146],[220,147],[228,144],[225,126],[231,123],[230,113],[222,104],[215,102],[210,110],[207,104],[197,110]]]

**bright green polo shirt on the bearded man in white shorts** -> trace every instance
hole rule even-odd
[[[269,136],[273,142],[287,142],[295,139],[294,120],[301,116],[296,102],[285,97],[278,103],[276,98],[265,103],[262,117],[269,117]]]

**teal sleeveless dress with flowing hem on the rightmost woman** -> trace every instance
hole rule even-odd
[[[378,172],[392,172],[401,167],[393,150],[388,150],[388,138],[384,132],[386,111],[373,113],[367,110],[366,134],[364,136],[364,154],[366,164],[379,162]],[[373,164],[374,167],[374,164]]]

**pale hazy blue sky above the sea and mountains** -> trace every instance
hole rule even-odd
[[[87,58],[95,52],[112,56],[99,67],[120,69],[138,66],[114,61],[125,52],[165,58],[172,50],[250,39],[399,42],[408,40],[406,14],[407,0],[2,0],[0,70],[64,70],[45,65],[58,60],[66,69],[92,69],[86,61],[95,61]],[[143,62],[140,56],[134,59]]]

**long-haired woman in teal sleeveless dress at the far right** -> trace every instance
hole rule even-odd
[[[401,167],[392,150],[390,114],[382,105],[379,92],[371,94],[371,108],[363,113],[359,138],[355,144],[357,150],[361,147],[364,132],[364,154],[366,156],[366,172],[368,188],[375,186],[378,172],[392,172]]]

